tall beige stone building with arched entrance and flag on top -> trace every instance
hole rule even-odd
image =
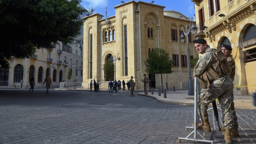
[[[187,82],[187,44],[179,37],[181,27],[190,25],[190,19],[180,12],[164,11],[163,6],[141,1],[129,1],[114,8],[116,15],[107,18],[100,14],[85,17],[83,82],[109,81],[104,76],[103,64],[113,56],[121,58],[114,61],[116,79],[128,81],[134,76],[136,89],[143,89],[140,79],[146,73],[144,61],[156,47],[166,50],[174,59],[174,72],[167,77],[163,74],[163,83],[167,80],[171,86],[171,83]],[[194,37],[189,35],[191,58],[197,56],[192,40]],[[159,74],[147,75],[154,87],[161,86]]]

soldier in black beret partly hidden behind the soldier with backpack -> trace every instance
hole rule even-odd
[[[229,46],[229,45],[224,45],[222,44],[221,45],[221,51],[223,52],[224,55],[226,55],[227,57],[227,62],[229,63],[230,65],[230,72],[229,72],[229,75],[232,79],[232,81],[234,81],[234,78],[235,78],[235,60],[232,58],[232,55],[231,55],[231,52],[232,52],[232,47]],[[235,137],[239,137],[239,133],[238,133],[238,123],[237,123],[237,116],[236,116],[236,113],[235,113],[235,106],[234,106],[234,95],[232,95],[232,103],[231,103],[231,109],[232,109],[232,112],[233,112],[233,117],[234,117],[234,120],[235,120],[235,124],[234,124],[234,128],[232,130],[232,133],[231,135],[232,136],[235,136]],[[224,127],[222,127],[222,131],[225,131]],[[225,132],[222,133],[223,135],[225,134]]]

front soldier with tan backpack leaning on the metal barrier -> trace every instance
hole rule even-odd
[[[199,78],[199,83],[203,88],[198,98],[198,111],[202,120],[202,123],[198,124],[198,129],[211,132],[207,109],[208,105],[218,98],[224,121],[224,140],[226,144],[232,144],[231,132],[234,128],[234,117],[231,103],[234,86],[228,73],[230,66],[228,64],[221,65],[227,63],[224,59],[225,55],[221,62],[216,59],[216,53],[218,57],[222,57],[223,53],[221,52],[221,55],[216,49],[211,49],[204,39],[199,38],[193,43],[197,52],[202,54],[194,67],[193,76]]]

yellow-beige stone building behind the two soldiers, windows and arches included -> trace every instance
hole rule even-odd
[[[195,4],[197,37],[212,48],[232,47],[235,59],[234,94],[256,91],[256,0],[192,0]]]

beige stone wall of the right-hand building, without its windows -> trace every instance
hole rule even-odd
[[[256,91],[256,76],[254,62],[245,63],[244,51],[248,48],[243,47],[243,37],[249,24],[256,25],[255,4],[256,0],[244,1],[233,0],[231,2],[220,1],[221,10],[209,17],[208,1],[195,2],[196,23],[199,24],[198,10],[204,7],[205,26],[208,28],[203,30],[198,37],[205,38],[208,45],[212,48],[219,49],[223,39],[228,38],[232,47],[232,56],[236,63],[236,73],[234,80],[234,94],[251,94]],[[225,14],[219,17],[219,14]],[[251,46],[252,48],[255,45]]]

